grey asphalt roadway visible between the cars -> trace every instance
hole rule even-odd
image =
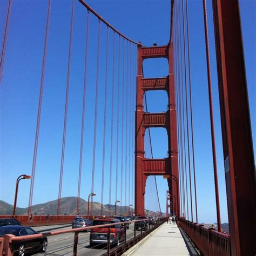
[[[134,224],[130,225],[129,230],[126,231],[126,239],[129,240],[134,236]],[[32,227],[38,232],[51,232],[70,229],[71,225],[51,225],[51,226],[38,226]],[[140,231],[136,231],[138,235]],[[73,253],[73,238],[75,233],[66,233],[53,235],[48,237],[48,248],[45,253],[36,253],[34,255],[72,255]],[[106,244],[90,248],[89,245],[90,232],[80,232],[78,240],[78,255],[102,255],[106,252]]]

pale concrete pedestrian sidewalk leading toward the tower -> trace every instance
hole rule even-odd
[[[199,255],[186,234],[176,224],[165,223],[123,255]]]

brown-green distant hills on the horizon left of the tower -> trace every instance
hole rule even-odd
[[[49,201],[44,204],[37,204],[32,206],[32,213],[35,215],[55,215],[57,212],[58,200]],[[87,206],[88,202],[80,198],[80,214],[87,215]],[[101,204],[93,202],[93,215],[100,215]],[[64,197],[61,199],[60,204],[60,214],[62,215],[76,215],[77,208],[77,197]],[[111,214],[114,213],[114,205],[103,205],[103,215],[109,215],[109,208]],[[5,201],[0,200],[0,215],[12,214],[13,206],[6,203]],[[129,207],[128,206],[117,206],[117,215],[122,213],[128,215]],[[130,211],[133,211],[133,208],[130,208]],[[27,208],[18,208],[16,209],[16,214],[26,215],[28,214]]]

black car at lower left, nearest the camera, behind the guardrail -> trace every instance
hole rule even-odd
[[[38,234],[31,227],[26,226],[2,226],[0,227],[0,237],[4,234],[13,234],[16,237],[23,235]],[[46,252],[48,246],[48,240],[46,237],[35,238],[27,241],[14,242],[14,255],[24,256],[25,254],[31,254],[32,252]],[[28,248],[28,249],[26,249]]]

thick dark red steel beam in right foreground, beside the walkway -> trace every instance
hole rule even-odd
[[[255,255],[256,185],[239,1],[213,0],[232,255]]]

